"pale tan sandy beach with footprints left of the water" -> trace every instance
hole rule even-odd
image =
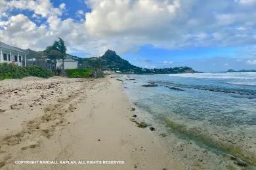
[[[1,169],[184,169],[154,131],[130,121],[116,78],[29,77],[0,87]],[[17,163],[25,160],[98,164]]]

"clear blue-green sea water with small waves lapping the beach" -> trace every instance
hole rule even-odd
[[[256,161],[256,73],[131,75],[123,86],[158,124]]]

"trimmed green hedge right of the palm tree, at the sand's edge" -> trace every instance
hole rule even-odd
[[[66,69],[69,78],[87,78],[93,76],[93,69]]]

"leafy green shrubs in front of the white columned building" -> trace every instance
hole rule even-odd
[[[51,71],[37,65],[21,67],[12,63],[0,63],[0,80],[5,78],[24,78],[25,76],[49,78],[53,75]]]

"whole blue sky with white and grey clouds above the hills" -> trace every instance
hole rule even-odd
[[[256,0],[0,0],[0,41],[139,67],[256,69]]]

